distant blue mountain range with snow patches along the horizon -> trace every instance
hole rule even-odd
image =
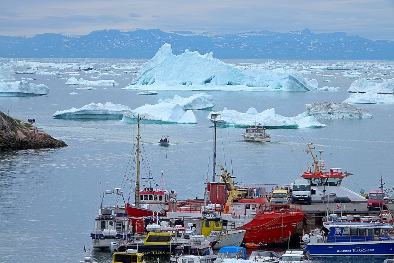
[[[174,54],[189,49],[220,59],[394,60],[394,41],[370,40],[344,32],[314,34],[309,29],[240,34],[99,30],[84,36],[40,34],[0,36],[4,58],[152,58],[164,44]]]

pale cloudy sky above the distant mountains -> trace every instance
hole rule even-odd
[[[1,0],[0,35],[101,29],[345,32],[394,41],[394,0]]]

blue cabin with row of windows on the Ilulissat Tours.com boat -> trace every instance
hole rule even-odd
[[[327,223],[322,231],[326,233],[326,242],[367,242],[390,240],[390,224],[346,222]]]

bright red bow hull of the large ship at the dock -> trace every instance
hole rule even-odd
[[[265,212],[256,215],[249,223],[239,229],[246,230],[244,243],[282,243],[291,237],[306,213]]]

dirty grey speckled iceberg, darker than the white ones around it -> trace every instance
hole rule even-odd
[[[306,104],[306,112],[317,120],[370,119],[374,116],[367,110],[358,109],[347,103],[319,102]]]

